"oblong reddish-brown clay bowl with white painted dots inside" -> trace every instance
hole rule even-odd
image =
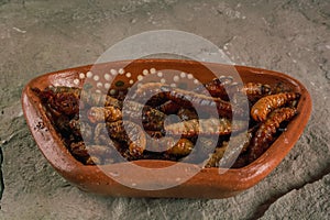
[[[94,76],[91,76],[90,73],[88,76],[87,73],[91,68]],[[50,85],[81,87],[85,79],[88,77],[95,79],[94,77],[96,75],[99,76],[96,77],[96,79],[99,80],[95,80],[95,86],[97,86],[97,82],[106,85],[107,80],[105,78],[107,77],[103,77],[105,73],[109,75],[112,73],[113,76],[116,76],[112,86],[125,87],[132,82],[130,80],[135,82],[138,75],[144,76],[142,74],[143,72],[145,72],[146,75],[155,73],[155,75],[157,75],[162,69],[176,69],[179,73],[191,74],[201,82],[210,81],[215,77],[210,73],[210,69],[212,69],[213,73],[221,73],[221,75],[224,76],[232,75],[233,72],[237,70],[244,82],[255,81],[271,86],[280,82],[284,87],[301,95],[297,107],[299,114],[288,124],[287,130],[278,136],[272,146],[250,165],[243,168],[230,168],[223,174],[219,174],[219,168],[204,168],[187,180],[175,184],[179,178],[174,178],[170,175],[161,174],[160,176],[153,174],[162,173],[161,169],[164,167],[179,164],[175,167],[175,172],[172,173],[185,177],[188,169],[196,169],[196,165],[151,160],[134,162],[134,165],[139,167],[155,168],[155,172],[152,174],[136,172],[129,162],[103,166],[82,165],[67,151],[61,136],[58,136],[52,123],[46,118],[38,98],[31,90],[33,87],[44,89]],[[116,72],[119,74],[117,75]],[[127,73],[131,73],[130,78],[127,77]],[[109,77],[109,75],[107,76]],[[186,78],[188,77],[188,75],[184,76]],[[237,76],[233,76],[234,80],[235,77]],[[121,82],[116,84],[118,81]],[[28,125],[40,150],[64,178],[81,190],[107,196],[125,197],[226,198],[234,196],[257,184],[280,163],[302,133],[311,111],[311,99],[308,91],[298,80],[287,75],[245,66],[201,64],[191,61],[176,59],[114,62],[46,74],[34,78],[26,85],[22,94],[22,105]],[[130,183],[131,185],[122,185],[116,179],[118,176],[125,180],[124,183]],[[161,185],[173,187],[157,187]],[[135,186],[151,186],[153,190],[145,190],[143,187],[139,188]]]

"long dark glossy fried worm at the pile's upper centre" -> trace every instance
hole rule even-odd
[[[167,99],[173,100],[182,107],[191,108],[195,106],[196,108],[204,110],[217,108],[220,117],[232,117],[232,106],[230,102],[223,101],[220,98],[212,98],[194,91],[170,88],[168,86],[163,86],[161,90],[165,92]],[[241,108],[235,108],[234,111],[239,116],[244,114],[244,111]]]

